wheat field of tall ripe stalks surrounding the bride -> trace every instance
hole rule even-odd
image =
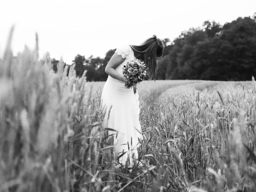
[[[116,168],[102,127],[104,82],[58,73],[12,34],[0,60],[1,192],[254,192],[256,83],[157,80],[138,85],[143,142]],[[38,46],[36,46],[38,47]]]

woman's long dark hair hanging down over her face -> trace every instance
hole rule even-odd
[[[146,39],[142,44],[130,45],[130,47],[134,51],[134,56],[144,61],[147,65],[149,79],[156,80],[158,69],[156,58],[162,57],[165,43],[157,38],[156,35],[153,35],[153,37]]]

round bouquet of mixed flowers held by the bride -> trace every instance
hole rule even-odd
[[[125,78],[124,86],[131,88],[134,83],[140,83],[146,78],[146,65],[140,60],[129,60],[126,65],[122,67]]]

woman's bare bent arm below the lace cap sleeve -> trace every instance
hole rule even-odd
[[[124,62],[124,60],[125,58],[122,58],[122,56],[114,53],[105,68],[106,74],[110,75],[112,78],[124,82],[124,76],[115,70],[122,62]]]

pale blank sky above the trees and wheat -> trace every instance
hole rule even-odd
[[[256,0],[1,0],[0,57],[12,25],[14,55],[33,49],[37,32],[40,58],[49,52],[72,64],[77,54],[104,58],[153,34],[174,40],[205,20],[223,25],[255,12]]]

